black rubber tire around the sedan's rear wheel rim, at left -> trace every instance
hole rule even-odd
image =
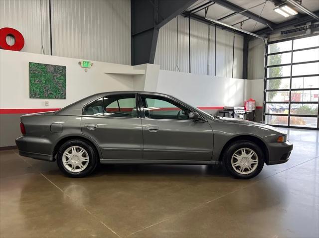
[[[63,153],[73,146],[83,148],[85,152],[87,153],[87,157],[88,157],[88,164],[82,171],[79,171],[79,172],[76,172],[76,171],[72,172],[66,168],[67,165],[63,164]],[[57,164],[60,170],[69,177],[73,177],[73,178],[85,177],[89,175],[90,173],[92,173],[93,170],[96,168],[98,164],[98,155],[96,151],[94,150],[94,148],[89,143],[79,139],[74,139],[74,140],[65,142],[60,147],[57,154]],[[84,162],[84,164],[86,164],[86,162]],[[80,169],[80,166],[78,166],[78,169]]]

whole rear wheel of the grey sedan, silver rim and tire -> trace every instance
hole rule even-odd
[[[65,142],[57,154],[60,170],[69,177],[89,175],[95,169],[97,161],[93,147],[82,140]]]

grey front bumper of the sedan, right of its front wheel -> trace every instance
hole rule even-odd
[[[285,163],[289,160],[290,154],[293,150],[293,144],[289,141],[278,143],[273,142],[268,144],[269,157],[266,161],[267,165]]]

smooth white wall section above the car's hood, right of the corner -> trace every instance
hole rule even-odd
[[[195,107],[243,106],[245,81],[160,70],[156,91]]]

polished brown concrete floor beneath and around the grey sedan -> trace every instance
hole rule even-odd
[[[74,179],[2,151],[0,237],[318,238],[319,133],[289,139],[289,162],[251,180],[202,165],[110,165]]]

